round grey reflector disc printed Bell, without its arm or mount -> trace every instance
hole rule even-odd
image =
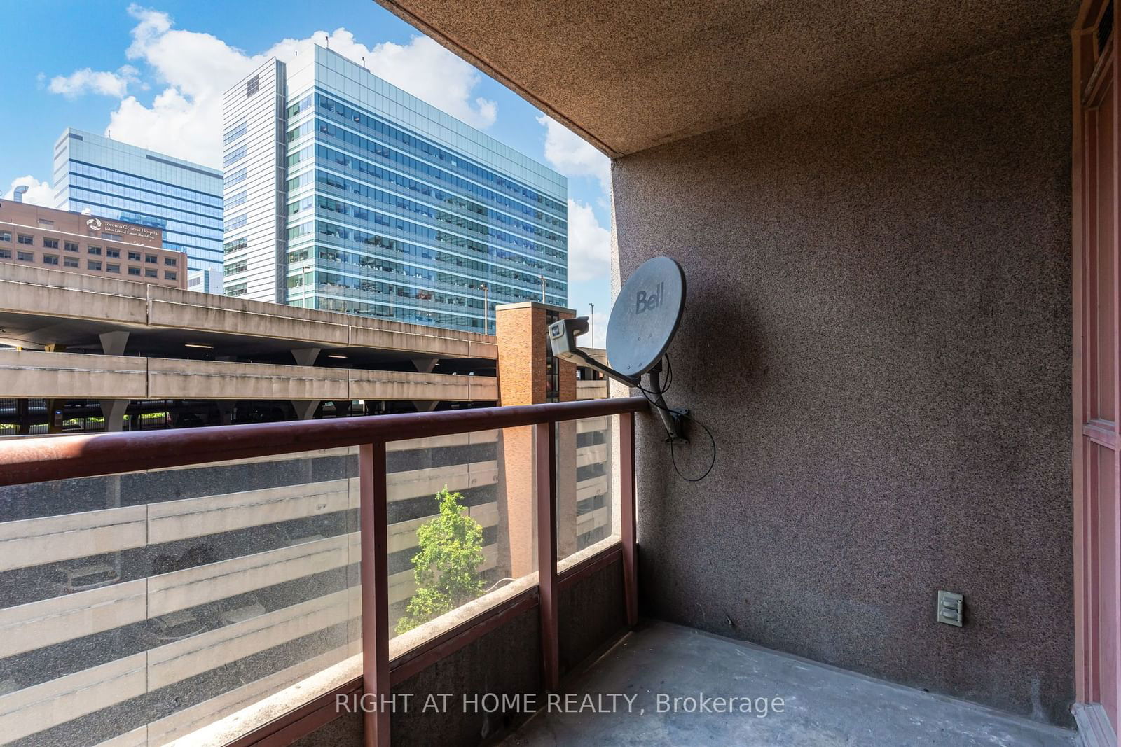
[[[661,362],[685,310],[685,273],[668,256],[634,271],[615,299],[608,320],[608,363],[637,379]]]

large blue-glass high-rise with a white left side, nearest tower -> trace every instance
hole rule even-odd
[[[337,53],[223,99],[225,292],[471,332],[567,302],[565,177]]]

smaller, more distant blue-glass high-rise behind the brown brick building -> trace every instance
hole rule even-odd
[[[220,170],[70,128],[53,183],[56,208],[159,228],[189,271],[222,268]]]

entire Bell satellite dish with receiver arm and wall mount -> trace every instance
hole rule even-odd
[[[608,363],[603,365],[576,347],[576,337],[589,329],[587,317],[560,319],[549,325],[553,355],[566,361],[580,361],[645,394],[654,394],[651,403],[666,427],[669,441],[686,442],[682,417],[687,410],[670,410],[661,395],[661,358],[674,339],[685,310],[685,273],[668,256],[643,262],[627,280],[608,321]],[[642,386],[642,375],[650,374],[649,389]]]

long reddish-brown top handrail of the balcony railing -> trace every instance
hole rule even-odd
[[[641,396],[0,442],[0,486],[639,412]]]

